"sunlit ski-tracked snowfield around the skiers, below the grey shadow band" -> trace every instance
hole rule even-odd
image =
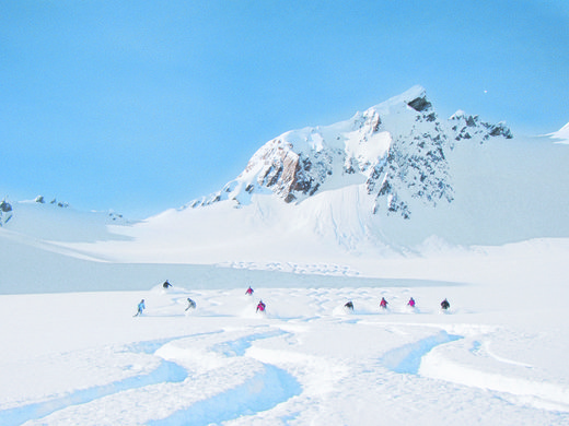
[[[3,295],[0,425],[569,425],[557,276]]]

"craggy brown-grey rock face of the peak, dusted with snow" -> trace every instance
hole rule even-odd
[[[221,200],[247,203],[253,193],[301,202],[320,191],[363,184],[375,214],[411,217],[410,200],[436,206],[454,199],[446,153],[454,143],[512,138],[503,126],[457,113],[441,121],[416,86],[350,120],[283,133],[267,142],[243,173],[218,193],[189,206]]]

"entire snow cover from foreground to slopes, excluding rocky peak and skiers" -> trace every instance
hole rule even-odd
[[[317,150],[332,128],[297,135]],[[383,155],[393,134],[348,149]],[[336,176],[297,204],[255,193],[140,222],[11,202],[0,426],[569,425],[558,140],[456,143],[454,201],[410,221]]]

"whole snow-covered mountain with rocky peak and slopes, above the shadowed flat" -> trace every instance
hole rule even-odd
[[[569,237],[569,146],[558,141],[463,111],[440,118],[415,86],[270,140],[219,192],[182,209],[140,223],[100,217],[89,228],[104,233],[61,237],[47,225],[37,234],[42,221],[25,225],[14,205],[4,228],[36,229],[51,248],[90,259],[186,264],[351,264]]]

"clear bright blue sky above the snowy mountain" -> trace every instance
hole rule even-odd
[[[141,218],[415,84],[539,134],[568,83],[565,0],[0,0],[0,198]]]

